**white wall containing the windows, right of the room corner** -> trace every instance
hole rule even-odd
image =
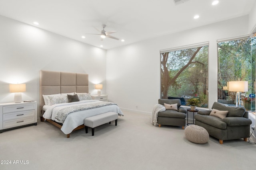
[[[119,107],[151,113],[160,98],[160,50],[209,42],[209,106],[217,101],[217,43],[248,34],[248,16],[110,49],[107,94]],[[136,108],[138,106],[138,108]]]

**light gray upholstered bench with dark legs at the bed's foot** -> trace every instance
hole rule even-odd
[[[111,121],[115,120],[117,125],[117,119],[118,119],[118,113],[115,112],[107,112],[102,113],[100,115],[87,117],[84,119],[84,126],[85,126],[85,133],[88,133],[88,127],[92,128],[92,136],[94,136],[94,128],[100,125],[103,125],[105,123],[109,124]]]

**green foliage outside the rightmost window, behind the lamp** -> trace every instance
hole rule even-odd
[[[249,89],[244,95],[255,94],[256,37],[226,41],[218,43],[218,46],[219,92],[222,92],[222,87],[227,86],[229,81],[248,81]],[[228,92],[228,96],[235,100],[233,92]]]

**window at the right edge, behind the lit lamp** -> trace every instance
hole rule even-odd
[[[229,81],[248,81],[248,92],[242,92],[242,106],[255,112],[256,38],[218,42],[218,102],[234,105],[236,92],[228,89]]]

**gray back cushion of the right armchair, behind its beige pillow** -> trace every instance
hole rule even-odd
[[[222,103],[214,102],[212,109],[227,110],[227,117],[243,117],[245,113],[244,107],[226,106]]]

